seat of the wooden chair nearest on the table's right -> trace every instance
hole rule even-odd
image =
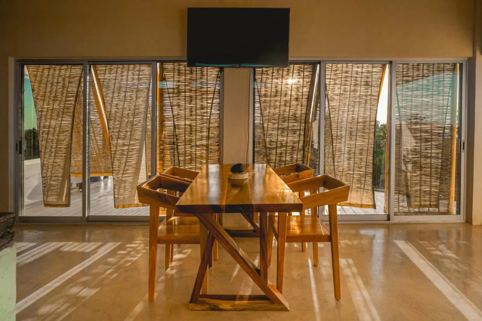
[[[278,230],[278,217],[274,218],[274,227]],[[286,224],[286,242],[330,242],[330,231],[319,218],[311,215],[288,216]]]

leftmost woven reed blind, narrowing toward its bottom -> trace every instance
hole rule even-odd
[[[39,132],[43,204],[47,207],[70,206],[72,124],[77,100],[83,95],[82,68],[27,66]]]

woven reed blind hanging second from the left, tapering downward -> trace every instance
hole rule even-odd
[[[96,69],[106,107],[114,204],[116,208],[141,206],[136,186],[147,178],[145,148],[151,66],[97,65]]]

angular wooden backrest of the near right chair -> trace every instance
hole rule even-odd
[[[310,191],[310,195],[300,197],[303,210],[324,205],[336,205],[348,200],[350,186],[329,175],[319,175],[288,184],[293,192]],[[318,192],[318,189],[321,189]],[[324,191],[323,191],[324,190]]]

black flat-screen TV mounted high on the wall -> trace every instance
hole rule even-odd
[[[289,8],[187,8],[187,65],[288,66]]]

